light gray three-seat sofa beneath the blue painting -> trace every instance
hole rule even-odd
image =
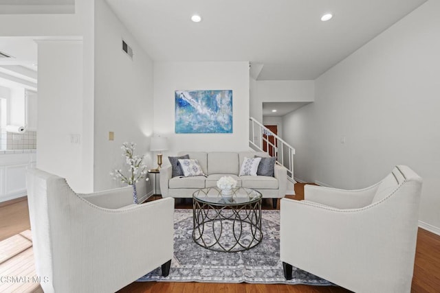
[[[274,176],[239,176],[240,167],[245,157],[269,157],[265,152],[179,152],[188,154],[190,159],[197,159],[205,176],[172,177],[172,167],[160,169],[160,190],[162,197],[192,198],[198,189],[216,187],[221,176],[231,176],[237,180],[237,187],[247,187],[260,191],[263,198],[272,198],[274,208],[278,198],[284,198],[287,186],[287,169],[275,165]]]

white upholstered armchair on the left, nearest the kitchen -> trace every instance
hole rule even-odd
[[[122,189],[78,195],[64,178],[39,169],[26,179],[44,292],[115,292],[161,265],[168,274],[173,198],[137,205]]]

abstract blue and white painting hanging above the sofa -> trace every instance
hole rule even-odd
[[[175,91],[176,133],[232,133],[232,90]]]

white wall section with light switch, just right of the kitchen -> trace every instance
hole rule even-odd
[[[37,167],[67,178],[76,192],[86,192],[83,176],[83,43],[39,41]],[[71,136],[79,141],[72,143]]]

